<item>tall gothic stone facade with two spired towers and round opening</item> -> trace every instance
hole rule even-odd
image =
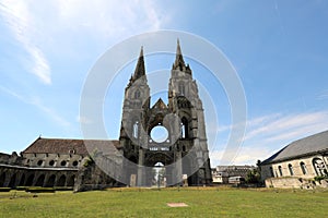
[[[126,89],[119,142],[124,154],[125,181],[150,186],[204,185],[212,181],[202,102],[192,71],[177,41],[168,83],[168,104],[161,98],[152,107],[143,50]],[[162,131],[162,137],[152,133]],[[162,166],[161,178],[154,167]]]

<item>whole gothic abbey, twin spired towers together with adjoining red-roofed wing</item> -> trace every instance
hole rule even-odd
[[[95,156],[102,159],[102,165],[109,162],[107,169],[112,177],[92,161],[85,141],[39,137],[21,156],[0,154],[0,186],[74,186],[75,191],[149,186],[153,179],[151,169],[157,162],[165,167],[163,177],[168,185],[179,184],[186,177],[185,183],[189,185],[210,184],[202,102],[179,44],[168,83],[168,105],[159,99],[151,107],[150,98],[141,49],[134,74],[125,90],[119,141],[86,143],[98,150]],[[167,131],[163,142],[151,137],[155,126]],[[108,149],[109,145],[113,150]]]

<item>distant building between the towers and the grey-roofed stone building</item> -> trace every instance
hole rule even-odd
[[[254,166],[218,166],[212,169],[213,183],[227,184],[229,178],[246,178],[250,170],[256,169]]]

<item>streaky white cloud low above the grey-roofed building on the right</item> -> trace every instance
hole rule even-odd
[[[225,126],[220,130],[225,131]],[[295,114],[272,113],[247,121],[247,132],[238,150],[230,150],[236,156],[223,156],[227,149],[210,152],[212,166],[254,165],[263,160],[289,143],[328,130],[328,111]],[[221,148],[224,146],[220,146]],[[234,159],[225,159],[234,157]]]

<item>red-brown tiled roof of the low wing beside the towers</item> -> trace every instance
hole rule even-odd
[[[65,140],[38,137],[22,154],[77,154],[87,155],[97,149],[104,154],[114,153],[119,148],[119,141],[106,140]]]

